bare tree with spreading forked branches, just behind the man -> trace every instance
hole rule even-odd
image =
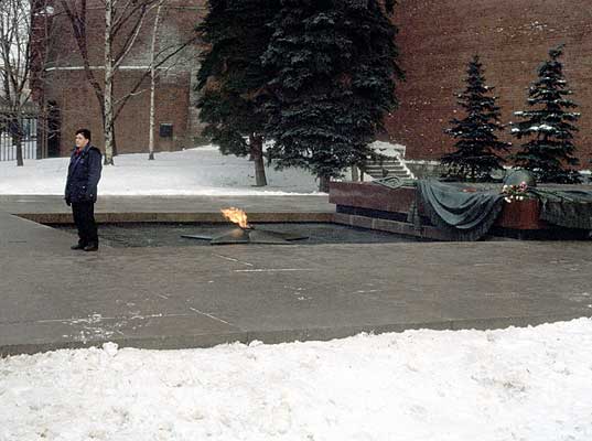
[[[158,32],[160,10],[166,0],[100,0],[105,6],[105,33],[104,33],[104,78],[99,80],[93,72],[89,60],[89,35],[87,32],[87,0],[60,0],[72,29],[83,58],[84,72],[90,83],[97,100],[99,103],[103,117],[103,129],[105,136],[105,163],[112,164],[114,155],[117,154],[115,143],[115,121],[123,109],[128,100],[142,93],[142,83],[150,77],[155,69],[176,56],[184,47],[195,40],[191,36],[184,42],[177,42],[174,47],[161,49],[151,54],[151,63],[141,72],[134,85],[121,96],[116,97],[114,93],[115,77],[126,56],[138,41],[148,15],[152,10],[157,10],[154,18],[153,40]]]

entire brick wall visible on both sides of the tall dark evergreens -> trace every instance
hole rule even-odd
[[[98,3],[98,0],[88,0]],[[578,155],[590,168],[592,155],[592,0],[399,0],[396,22],[401,65],[407,80],[399,85],[400,108],[387,118],[387,138],[407,146],[408,159],[438,159],[452,148],[442,133],[456,108],[454,94],[464,87],[466,63],[481,55],[487,83],[496,86],[505,122],[512,112],[525,108],[527,88],[548,50],[566,44],[567,79],[580,105],[582,117],[577,138]],[[191,34],[205,14],[205,0],[176,0],[163,22],[165,41]],[[80,68],[69,23],[56,10],[54,35],[43,82],[44,100],[58,108],[62,141],[60,154],[71,149],[71,133],[88,126],[101,146],[98,101]],[[98,4],[89,11],[92,65],[100,72],[104,20]],[[147,20],[151,23],[151,19]],[[123,63],[118,94],[129,88],[148,63],[150,25]],[[163,42],[161,42],[163,43]],[[200,120],[194,107],[197,62],[196,46],[184,53],[183,62],[161,76],[157,95],[157,128],[172,125],[172,138],[159,137],[159,150],[193,147],[200,141]],[[148,84],[148,83],[147,83]],[[119,152],[142,152],[148,146],[149,94],[133,97],[116,125]],[[509,136],[506,137],[512,141]]]

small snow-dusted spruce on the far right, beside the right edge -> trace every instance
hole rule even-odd
[[[559,62],[563,46],[549,51],[550,60],[538,71],[538,80],[528,92],[531,110],[516,111],[524,119],[512,129],[518,139],[528,139],[521,151],[513,155],[518,166],[531,171],[539,182],[577,183],[579,174],[569,165],[578,165],[573,157],[573,125],[580,114],[570,111],[578,105],[567,97],[572,95]]]

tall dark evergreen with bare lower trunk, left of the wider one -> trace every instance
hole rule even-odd
[[[258,186],[267,185],[262,152],[267,117],[258,100],[270,80],[261,55],[272,34],[267,24],[278,9],[279,0],[209,0],[198,26],[209,45],[197,74],[204,136],[224,154],[250,154]]]

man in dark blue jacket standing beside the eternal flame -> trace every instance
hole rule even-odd
[[[72,152],[66,181],[66,204],[72,205],[74,223],[78,228],[78,244],[72,249],[98,249],[95,202],[101,171],[100,151],[90,144],[90,130],[76,131],[76,149]]]

